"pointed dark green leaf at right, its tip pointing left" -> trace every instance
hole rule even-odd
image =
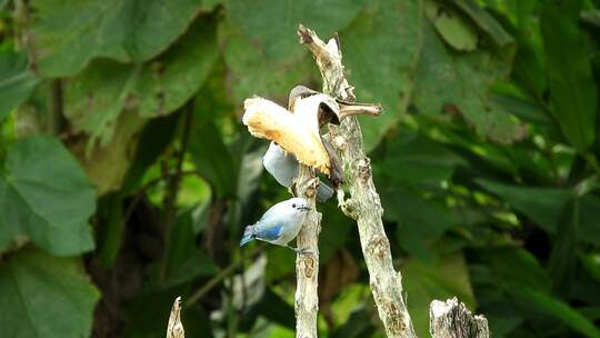
[[[560,216],[571,198],[564,189],[508,186],[483,179],[476,181],[549,232],[557,230]]]

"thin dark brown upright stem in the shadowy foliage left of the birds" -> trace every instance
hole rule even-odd
[[[177,213],[177,196],[179,193],[179,185],[181,182],[181,172],[183,169],[183,158],[188,150],[188,142],[190,139],[192,119],[193,119],[193,99],[188,101],[183,107],[186,110],[186,118],[183,120],[183,132],[181,135],[181,149],[179,150],[176,171],[169,182],[169,190],[164,198],[164,255],[160,262],[159,282],[163,282],[167,276],[167,268],[169,266],[169,251],[171,250],[171,230],[176,220]]]

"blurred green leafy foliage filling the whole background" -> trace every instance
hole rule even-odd
[[[293,337],[289,196],[244,98],[320,78],[339,33],[416,329],[458,296],[494,337],[600,337],[600,1],[0,1],[0,336]],[[383,337],[354,225],[320,237],[323,337]]]

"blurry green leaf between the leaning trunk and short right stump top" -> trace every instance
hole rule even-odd
[[[429,336],[429,305],[433,299],[458,297],[471,310],[476,299],[462,252],[440,255],[434,262],[411,259],[402,268],[409,310],[417,336]]]

